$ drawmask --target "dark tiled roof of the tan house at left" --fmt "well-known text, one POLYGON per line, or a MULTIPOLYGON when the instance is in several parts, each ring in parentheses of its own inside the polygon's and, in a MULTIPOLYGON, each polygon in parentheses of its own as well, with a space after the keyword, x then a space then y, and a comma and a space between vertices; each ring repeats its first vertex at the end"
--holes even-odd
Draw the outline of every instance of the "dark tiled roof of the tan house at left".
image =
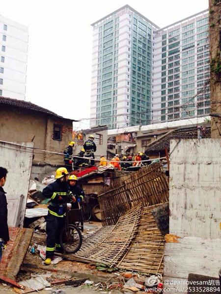
MULTIPOLYGON (((63 118, 63 117, 57 115, 55 112, 52 112, 51 110, 48 110, 46 108, 43 108, 41 106, 38 106, 36 104, 33 104, 28 101, 24 101, 24 100, 18 100, 18 99, 12 99, 12 98, 6 98, 6 97, 0 96, 0 105, 2 105, 2 104, 3 105, 10 105, 10 106, 18 107, 18 108, 23 108, 23 109, 29 109, 29 110, 37 111, 40 113, 45 113, 45 114, 48 114, 51 116, 63 118)), ((63 119, 65 119, 65 118, 63 118, 63 119)), ((71 119, 66 119, 66 120, 71 120, 71 119)), ((72 121, 74 121, 74 120, 72 120, 72 121)))

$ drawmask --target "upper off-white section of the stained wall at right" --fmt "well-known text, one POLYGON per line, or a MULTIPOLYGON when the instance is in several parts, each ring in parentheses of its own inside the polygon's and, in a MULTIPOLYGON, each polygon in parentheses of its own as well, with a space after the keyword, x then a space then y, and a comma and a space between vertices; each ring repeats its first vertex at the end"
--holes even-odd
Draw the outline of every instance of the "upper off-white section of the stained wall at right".
POLYGON ((221 139, 171 140, 169 231, 221 238, 221 139))

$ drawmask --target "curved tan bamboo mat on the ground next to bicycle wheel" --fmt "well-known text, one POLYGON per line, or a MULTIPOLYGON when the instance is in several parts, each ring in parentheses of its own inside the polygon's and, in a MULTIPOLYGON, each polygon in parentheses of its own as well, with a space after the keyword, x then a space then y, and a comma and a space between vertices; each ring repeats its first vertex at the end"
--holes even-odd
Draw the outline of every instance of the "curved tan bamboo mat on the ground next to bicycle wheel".
POLYGON ((115 266, 128 251, 138 231, 141 205, 120 217, 115 225, 106 226, 83 242, 75 254, 85 262, 101 262, 115 266))

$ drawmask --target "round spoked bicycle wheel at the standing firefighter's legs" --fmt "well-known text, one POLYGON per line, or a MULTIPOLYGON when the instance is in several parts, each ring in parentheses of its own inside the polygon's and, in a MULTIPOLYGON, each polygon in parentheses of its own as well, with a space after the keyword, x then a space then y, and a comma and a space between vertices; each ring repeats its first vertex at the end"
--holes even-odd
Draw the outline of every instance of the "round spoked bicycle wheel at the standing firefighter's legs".
POLYGON ((82 246, 81 230, 74 224, 68 224, 61 229, 60 245, 66 253, 75 253, 82 246))

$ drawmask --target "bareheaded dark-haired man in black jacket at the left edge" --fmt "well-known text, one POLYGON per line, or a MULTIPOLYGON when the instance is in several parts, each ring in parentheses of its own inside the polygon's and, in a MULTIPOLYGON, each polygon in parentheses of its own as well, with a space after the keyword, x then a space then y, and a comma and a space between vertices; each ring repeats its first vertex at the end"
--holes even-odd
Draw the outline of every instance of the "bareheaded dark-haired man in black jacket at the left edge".
POLYGON ((7 200, 3 186, 6 182, 6 176, 8 171, 5 168, 0 167, 0 260, 2 255, 2 248, 9 241, 8 232, 8 210, 7 210, 7 200))

